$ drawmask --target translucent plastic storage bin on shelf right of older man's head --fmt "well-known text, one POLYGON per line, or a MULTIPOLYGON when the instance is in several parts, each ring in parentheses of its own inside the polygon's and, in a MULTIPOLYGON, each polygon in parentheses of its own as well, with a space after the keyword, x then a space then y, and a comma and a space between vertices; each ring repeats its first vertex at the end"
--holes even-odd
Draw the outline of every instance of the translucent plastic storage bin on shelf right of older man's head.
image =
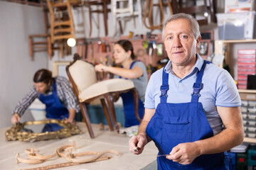
POLYGON ((255 11, 243 13, 216 13, 219 40, 253 39, 255 11))

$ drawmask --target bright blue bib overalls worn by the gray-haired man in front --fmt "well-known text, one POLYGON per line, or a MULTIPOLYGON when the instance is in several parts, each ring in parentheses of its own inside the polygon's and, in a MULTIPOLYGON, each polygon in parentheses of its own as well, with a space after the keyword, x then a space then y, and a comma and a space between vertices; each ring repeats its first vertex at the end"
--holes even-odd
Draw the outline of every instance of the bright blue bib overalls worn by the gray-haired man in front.
MULTIPOLYGON (((163 82, 160 88, 160 103, 156 107, 156 113, 146 127, 146 134, 151 137, 159 154, 169 154, 176 145, 184 142, 195 142, 208 137, 213 137, 213 130, 208 123, 201 102, 198 102, 203 70, 206 67, 204 61, 202 69, 197 74, 196 83, 193 84, 193 94, 189 103, 166 103, 169 90, 169 74, 163 69, 163 82)), ((209 63, 208 63, 209 64, 209 63)), ((158 169, 200 169, 200 170, 224 170, 228 159, 224 153, 204 154, 193 160, 191 164, 182 165, 166 157, 157 157, 158 169)), ((227 167, 228 168, 228 167, 227 167)))

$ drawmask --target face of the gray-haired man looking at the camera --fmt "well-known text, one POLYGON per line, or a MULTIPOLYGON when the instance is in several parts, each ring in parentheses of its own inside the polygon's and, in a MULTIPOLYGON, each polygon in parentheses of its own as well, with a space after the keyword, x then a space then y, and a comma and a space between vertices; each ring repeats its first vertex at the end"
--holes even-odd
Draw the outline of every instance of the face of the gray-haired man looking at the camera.
POLYGON ((201 37, 198 40, 193 35, 191 24, 186 19, 169 22, 164 30, 164 45, 172 64, 176 66, 188 65, 196 56, 201 37))

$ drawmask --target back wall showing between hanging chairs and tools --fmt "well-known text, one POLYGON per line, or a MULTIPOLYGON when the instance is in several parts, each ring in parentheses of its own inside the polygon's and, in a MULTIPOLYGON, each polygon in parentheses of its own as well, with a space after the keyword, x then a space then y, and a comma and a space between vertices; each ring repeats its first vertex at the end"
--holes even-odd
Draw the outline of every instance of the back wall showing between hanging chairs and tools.
MULTIPOLYGON (((203 0, 198 0, 198 4, 203 3, 203 0)), ((143 4, 143 3, 142 3, 143 4)), ((217 13, 223 13, 224 12, 224 1, 218 0, 216 6, 217 13)), ((142 5, 142 8, 144 6, 142 5)), ((100 40, 108 40, 110 41, 110 46, 112 45, 113 42, 119 40, 119 39, 124 39, 129 36, 129 33, 132 32, 133 36, 135 35, 144 35, 144 40, 146 38, 146 33, 151 32, 151 34, 156 34, 159 36, 159 39, 157 42, 161 41, 161 30, 149 30, 144 26, 144 24, 140 24, 138 17, 135 17, 135 27, 133 24, 132 20, 128 21, 122 21, 122 28, 123 28, 123 34, 119 35, 118 33, 114 33, 114 28, 113 28, 113 17, 112 13, 108 13, 108 18, 107 18, 107 27, 108 27, 108 35, 105 36, 105 27, 104 27, 104 21, 103 21, 103 15, 102 13, 92 13, 92 35, 89 35, 90 32, 90 22, 89 22, 89 12, 88 8, 86 6, 84 7, 79 7, 79 8, 74 8, 74 23, 75 23, 75 36, 76 38, 86 38, 87 42, 91 43, 88 46, 88 51, 87 53, 90 52, 91 45, 93 45, 93 57, 95 57, 96 62, 102 62, 105 60, 105 57, 109 55, 109 57, 112 57, 111 52, 98 52, 97 48, 99 45, 97 45, 97 39, 100 40), (100 61, 97 61, 97 59, 101 59, 100 61)), ((166 7, 164 8, 164 18, 168 18, 170 16, 169 9, 166 7)), ((157 22, 160 20, 160 13, 156 12, 154 15, 154 24, 157 25, 157 22)), ((118 25, 118 24, 117 24, 118 25)), ((214 39, 218 40, 218 26, 216 23, 210 23, 208 26, 201 26, 201 31, 206 31, 206 30, 214 30, 214 39)), ((119 30, 119 27, 117 26, 117 30, 119 30)), ((132 43, 134 44, 134 48, 137 48, 135 45, 138 45, 140 43, 140 40, 131 40, 132 43)), ((142 45, 140 45, 142 46, 142 45)), ((52 60, 48 60, 48 69, 53 70, 53 64, 56 61, 73 61, 73 54, 75 52, 81 52, 81 49, 77 47, 72 48, 72 55, 67 55, 65 57, 60 56, 60 52, 55 51, 55 55, 53 56, 52 60)), ((134 51, 136 52, 136 50, 134 51)), ((154 56, 153 56, 153 65, 156 66, 157 60, 161 59, 161 57, 155 57, 156 55, 156 50, 154 50, 154 56)), ((92 55, 88 54, 87 56, 92 58, 92 55)), ((87 59, 90 61, 90 59, 87 59)), ((149 55, 144 56, 144 60, 148 61, 149 60, 149 55)), ((146 63, 148 64, 148 63, 146 63)))

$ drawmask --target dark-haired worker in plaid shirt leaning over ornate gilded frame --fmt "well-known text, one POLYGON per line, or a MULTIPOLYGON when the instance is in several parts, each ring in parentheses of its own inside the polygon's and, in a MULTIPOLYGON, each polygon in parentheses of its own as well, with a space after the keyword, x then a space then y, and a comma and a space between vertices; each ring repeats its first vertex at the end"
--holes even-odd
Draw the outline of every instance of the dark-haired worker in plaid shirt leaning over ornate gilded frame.
POLYGON ((46 118, 65 119, 66 123, 74 123, 75 116, 80 116, 80 107, 68 79, 52 77, 48 69, 39 69, 33 77, 33 84, 31 91, 14 108, 11 123, 18 123, 36 98, 46 104, 46 118))

